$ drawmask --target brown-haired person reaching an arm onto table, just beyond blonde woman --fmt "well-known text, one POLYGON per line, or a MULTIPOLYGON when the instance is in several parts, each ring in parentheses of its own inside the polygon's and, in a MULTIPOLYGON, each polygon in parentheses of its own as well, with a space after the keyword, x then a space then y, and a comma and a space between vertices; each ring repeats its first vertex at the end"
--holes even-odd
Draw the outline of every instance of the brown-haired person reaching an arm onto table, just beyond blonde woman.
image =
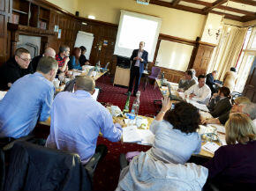
POLYGON ((242 104, 248 104, 248 106, 251 104, 251 100, 241 96, 237 97, 237 99, 234 100, 235 104, 231 107, 230 111, 220 115, 217 118, 207 118, 202 122, 202 124, 222 124, 224 125, 226 121, 229 120, 230 118, 230 113, 237 113, 237 112, 242 112, 243 105, 242 104))

